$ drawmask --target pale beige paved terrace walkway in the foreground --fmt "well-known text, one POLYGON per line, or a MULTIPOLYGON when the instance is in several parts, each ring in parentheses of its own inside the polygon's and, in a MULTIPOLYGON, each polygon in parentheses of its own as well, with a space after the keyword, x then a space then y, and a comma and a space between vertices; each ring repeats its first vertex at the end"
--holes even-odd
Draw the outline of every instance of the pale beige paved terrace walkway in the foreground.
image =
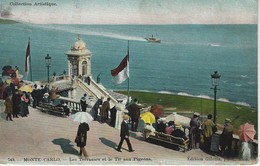
MULTIPOLYGON (((1 107, 1 106, 0 106, 1 107)), ((78 124, 71 118, 48 115, 30 108, 28 117, 6 121, 0 109, 1 164, 253 164, 256 161, 225 161, 201 150, 178 152, 143 141, 140 132, 131 133, 135 152, 129 153, 126 143, 122 152, 114 147, 119 130, 96 121, 90 123, 86 150, 89 159, 80 159, 74 139, 78 124)))

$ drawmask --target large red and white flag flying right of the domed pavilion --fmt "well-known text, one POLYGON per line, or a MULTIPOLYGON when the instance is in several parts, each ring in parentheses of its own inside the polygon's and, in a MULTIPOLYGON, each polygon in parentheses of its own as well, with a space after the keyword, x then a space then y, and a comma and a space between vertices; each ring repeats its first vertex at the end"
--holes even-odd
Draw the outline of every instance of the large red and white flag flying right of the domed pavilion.
POLYGON ((116 84, 121 84, 129 77, 129 55, 126 55, 117 68, 111 70, 116 84))

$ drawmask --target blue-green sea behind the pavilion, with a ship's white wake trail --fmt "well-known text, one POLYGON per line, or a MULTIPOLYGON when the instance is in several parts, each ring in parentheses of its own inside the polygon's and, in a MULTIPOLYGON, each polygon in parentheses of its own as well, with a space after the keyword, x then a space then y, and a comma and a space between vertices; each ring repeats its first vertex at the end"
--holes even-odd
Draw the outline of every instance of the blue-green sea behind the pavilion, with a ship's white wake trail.
MULTIPOLYGON (((50 73, 67 69, 65 53, 78 38, 92 52, 92 77, 111 90, 110 70, 127 54, 129 88, 213 99, 211 74, 221 74, 217 100, 257 108, 257 25, 0 25, 0 67, 18 66, 24 74, 30 40, 33 80, 47 80, 45 56, 52 58, 50 73), (145 37, 160 38, 149 43, 145 37)), ((24 77, 24 79, 26 79, 24 77)), ((29 78, 28 78, 29 79, 29 78)))

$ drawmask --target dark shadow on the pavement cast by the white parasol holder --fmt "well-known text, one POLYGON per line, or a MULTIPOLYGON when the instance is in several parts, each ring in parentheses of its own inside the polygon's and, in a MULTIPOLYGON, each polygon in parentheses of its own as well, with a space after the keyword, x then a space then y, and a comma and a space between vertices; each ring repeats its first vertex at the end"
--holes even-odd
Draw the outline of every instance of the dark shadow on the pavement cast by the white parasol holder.
POLYGON ((52 140, 52 143, 55 145, 60 145, 63 153, 66 154, 74 154, 74 155, 78 155, 78 151, 73 147, 74 145, 70 144, 71 141, 69 139, 65 139, 65 138, 57 138, 52 140))

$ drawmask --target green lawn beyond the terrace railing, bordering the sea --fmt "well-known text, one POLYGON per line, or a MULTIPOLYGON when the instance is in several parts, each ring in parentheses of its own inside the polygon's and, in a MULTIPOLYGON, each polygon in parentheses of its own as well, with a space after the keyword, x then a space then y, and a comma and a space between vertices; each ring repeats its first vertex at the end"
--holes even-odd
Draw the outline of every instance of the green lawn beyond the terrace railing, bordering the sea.
MULTIPOLYGON (((118 93, 126 94, 125 91, 118 91, 118 93)), ((193 111, 201 115, 211 113, 213 115, 214 101, 209 99, 201 99, 197 97, 179 96, 172 94, 147 93, 147 92, 130 92, 132 98, 137 98, 139 103, 150 106, 153 104, 160 104, 164 107, 164 112, 184 112, 193 111), (176 108, 173 109, 173 108, 176 108)), ((238 119, 233 121, 235 128, 243 123, 251 123, 255 125, 257 130, 257 110, 246 106, 236 105, 232 103, 217 101, 217 123, 223 124, 225 118, 238 119)))

